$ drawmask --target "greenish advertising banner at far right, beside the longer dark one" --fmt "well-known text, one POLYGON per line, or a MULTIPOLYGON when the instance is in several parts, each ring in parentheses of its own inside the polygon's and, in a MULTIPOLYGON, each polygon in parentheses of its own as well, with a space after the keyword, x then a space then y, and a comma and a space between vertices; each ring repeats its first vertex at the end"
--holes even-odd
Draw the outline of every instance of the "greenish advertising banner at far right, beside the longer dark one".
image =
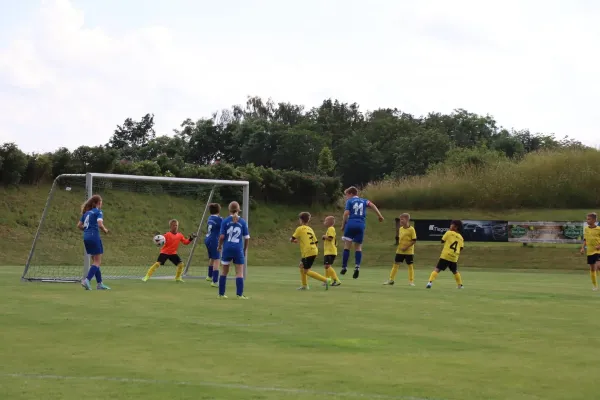
POLYGON ((518 243, 582 243, 582 222, 508 221, 508 241, 518 243))

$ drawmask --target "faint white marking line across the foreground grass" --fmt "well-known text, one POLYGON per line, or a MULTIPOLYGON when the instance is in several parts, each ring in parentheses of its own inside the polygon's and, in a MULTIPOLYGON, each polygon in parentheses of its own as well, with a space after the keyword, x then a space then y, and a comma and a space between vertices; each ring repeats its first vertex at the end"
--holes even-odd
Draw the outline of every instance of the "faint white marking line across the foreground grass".
POLYGON ((276 392, 282 394, 307 394, 312 396, 336 396, 342 398, 365 398, 381 400, 443 400, 434 398, 412 397, 412 396, 388 396, 384 394, 366 394, 359 392, 330 392, 318 390, 305 390, 294 388, 279 387, 261 387, 250 385, 237 385, 233 383, 215 383, 215 382, 189 382, 189 381, 168 381, 159 379, 140 379, 140 378, 120 378, 110 376, 68 376, 68 375, 41 375, 41 374, 6 374, 0 373, 0 376, 20 379, 39 379, 39 380, 63 380, 63 381, 101 381, 101 382, 120 382, 120 383, 142 383, 146 385, 177 385, 177 386, 204 386, 221 389, 237 389, 253 392, 276 392))

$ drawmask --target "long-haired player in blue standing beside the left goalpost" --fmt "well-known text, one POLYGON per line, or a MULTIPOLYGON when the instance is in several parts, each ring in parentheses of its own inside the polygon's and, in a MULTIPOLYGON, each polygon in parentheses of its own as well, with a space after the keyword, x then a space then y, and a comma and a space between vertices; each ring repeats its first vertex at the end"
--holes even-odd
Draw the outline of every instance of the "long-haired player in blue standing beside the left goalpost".
POLYGON ((92 290, 90 281, 96 277, 96 289, 110 289, 102 283, 102 273, 100 272, 100 264, 102 262, 102 238, 100 238, 100 230, 108 233, 108 229, 104 226, 104 216, 102 214, 102 197, 95 194, 81 206, 81 218, 77 223, 77 228, 83 231, 83 245, 86 253, 92 258, 92 265, 88 271, 87 277, 81 281, 81 286, 85 290, 92 290))

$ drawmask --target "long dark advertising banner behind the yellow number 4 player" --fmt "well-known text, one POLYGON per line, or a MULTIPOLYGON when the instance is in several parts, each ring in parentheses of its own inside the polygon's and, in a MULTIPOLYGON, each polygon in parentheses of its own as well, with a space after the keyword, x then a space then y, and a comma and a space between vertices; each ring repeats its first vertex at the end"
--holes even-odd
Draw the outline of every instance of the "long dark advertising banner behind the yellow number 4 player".
MULTIPOLYGON (((440 241, 450 229, 450 220, 415 220, 415 231, 419 241, 440 241)), ((468 242, 508 242, 507 221, 462 220, 462 236, 468 242)))

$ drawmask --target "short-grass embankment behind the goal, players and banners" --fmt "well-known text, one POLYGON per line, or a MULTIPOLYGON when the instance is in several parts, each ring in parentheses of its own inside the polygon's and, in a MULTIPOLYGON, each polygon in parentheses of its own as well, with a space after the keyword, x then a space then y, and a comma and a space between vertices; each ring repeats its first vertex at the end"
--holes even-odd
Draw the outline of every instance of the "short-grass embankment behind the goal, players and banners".
MULTIPOLYGON (((0 189, 0 265, 24 265, 49 186, 0 189)), ((157 249, 151 242, 155 231, 166 231, 168 220, 180 220, 185 234, 196 230, 205 200, 192 200, 168 195, 131 193, 119 190, 102 193, 105 198, 105 223, 111 230, 105 236, 104 265, 145 266, 152 263, 157 249)), ((75 228, 79 207, 84 199, 81 189, 61 188, 51 203, 46 224, 41 232, 33 263, 37 265, 81 265, 80 232, 75 228)), ((250 214, 250 265, 291 267, 298 259, 298 249, 288 242, 302 209, 283 205, 259 204, 250 214)), ((340 217, 342 210, 308 210, 313 213, 312 226, 323 230, 326 215, 340 217)), ((394 254, 394 217, 401 211, 383 209, 386 221, 369 218, 365 243, 365 267, 390 266, 394 254)), ((431 210, 412 212, 413 218, 470 218, 513 220, 582 220, 588 210, 431 210)), ((339 218, 336 226, 339 230, 339 218)), ((338 232, 341 236, 341 233, 338 232)), ((339 244, 338 244, 339 246, 339 244)), ((340 246, 341 248, 341 246, 340 246)), ((439 256, 437 243, 419 243, 417 268, 431 268, 439 256)), ((461 258, 465 268, 493 269, 585 269, 585 260, 577 255, 577 245, 539 245, 467 243, 461 258)), ((182 249, 182 256, 189 248, 182 249)), ((206 252, 198 247, 195 264, 206 264, 206 252)), ((338 264, 339 267, 339 264, 338 264)))

